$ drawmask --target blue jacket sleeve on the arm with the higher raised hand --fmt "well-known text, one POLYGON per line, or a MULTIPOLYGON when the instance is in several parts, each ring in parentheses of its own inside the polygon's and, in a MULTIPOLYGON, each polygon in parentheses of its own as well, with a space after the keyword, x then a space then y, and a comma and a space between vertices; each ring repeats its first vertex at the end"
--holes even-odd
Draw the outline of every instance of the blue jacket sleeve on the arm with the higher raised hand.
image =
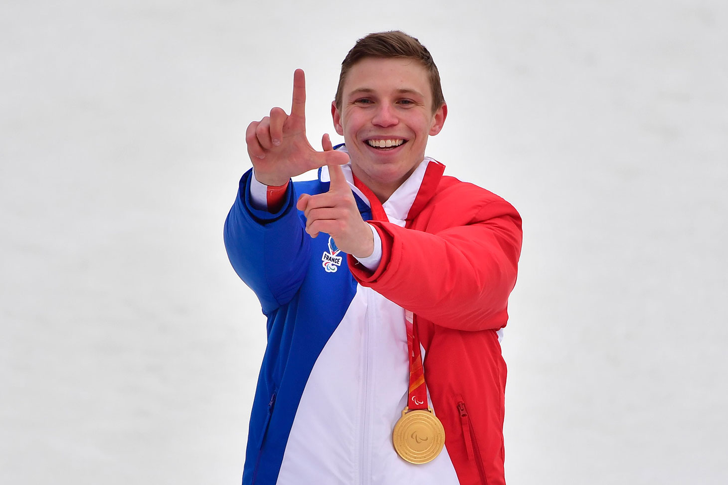
POLYGON ((248 170, 240 179, 235 202, 225 220, 223 239, 232 267, 261 301, 264 314, 288 303, 304 280, 309 238, 298 217, 293 184, 276 213, 253 208, 248 170))

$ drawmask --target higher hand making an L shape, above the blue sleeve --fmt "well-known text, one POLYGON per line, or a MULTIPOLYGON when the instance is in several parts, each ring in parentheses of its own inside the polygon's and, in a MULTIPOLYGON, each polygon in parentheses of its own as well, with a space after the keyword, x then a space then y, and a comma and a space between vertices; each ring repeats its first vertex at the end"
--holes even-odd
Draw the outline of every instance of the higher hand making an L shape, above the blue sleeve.
POLYGON ((305 111, 306 79, 304 71, 296 69, 290 115, 276 107, 271 110, 270 116, 250 123, 245 131, 248 155, 259 182, 280 186, 308 170, 349 162, 349 156, 341 151, 313 149, 306 138, 305 111))

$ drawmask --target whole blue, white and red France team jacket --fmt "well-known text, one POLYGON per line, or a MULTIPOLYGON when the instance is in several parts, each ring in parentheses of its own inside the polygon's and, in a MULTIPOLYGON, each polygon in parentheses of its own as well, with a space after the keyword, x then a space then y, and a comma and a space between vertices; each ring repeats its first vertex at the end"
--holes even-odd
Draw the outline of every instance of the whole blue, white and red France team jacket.
POLYGON ((238 275, 267 317, 242 483, 505 484, 506 366, 499 331, 515 285, 521 218, 505 200, 443 176, 425 159, 381 205, 344 166, 379 232, 373 273, 328 237, 304 232, 300 194, 328 191, 328 170, 289 184, 277 213, 250 203, 248 171, 226 219, 238 275), (408 399, 404 309, 416 315, 443 452, 397 456, 392 427, 408 399))

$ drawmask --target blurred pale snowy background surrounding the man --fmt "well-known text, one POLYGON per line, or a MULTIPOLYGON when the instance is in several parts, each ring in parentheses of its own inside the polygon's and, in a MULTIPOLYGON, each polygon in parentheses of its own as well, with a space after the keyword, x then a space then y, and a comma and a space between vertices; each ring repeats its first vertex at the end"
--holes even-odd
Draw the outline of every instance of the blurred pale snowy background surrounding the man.
POLYGON ((521 211, 510 485, 728 482, 724 0, 5 0, 0 483, 239 484, 264 318, 222 225, 245 127, 400 28, 428 154, 521 211))

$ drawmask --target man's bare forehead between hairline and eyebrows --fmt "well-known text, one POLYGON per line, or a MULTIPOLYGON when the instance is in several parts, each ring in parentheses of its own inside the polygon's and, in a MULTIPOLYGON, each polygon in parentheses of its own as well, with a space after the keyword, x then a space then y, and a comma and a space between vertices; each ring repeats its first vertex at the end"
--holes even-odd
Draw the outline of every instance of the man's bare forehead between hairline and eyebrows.
POLYGON ((344 79, 344 96, 359 90, 382 94, 411 90, 430 98, 430 76, 416 59, 363 58, 349 68, 344 79))

